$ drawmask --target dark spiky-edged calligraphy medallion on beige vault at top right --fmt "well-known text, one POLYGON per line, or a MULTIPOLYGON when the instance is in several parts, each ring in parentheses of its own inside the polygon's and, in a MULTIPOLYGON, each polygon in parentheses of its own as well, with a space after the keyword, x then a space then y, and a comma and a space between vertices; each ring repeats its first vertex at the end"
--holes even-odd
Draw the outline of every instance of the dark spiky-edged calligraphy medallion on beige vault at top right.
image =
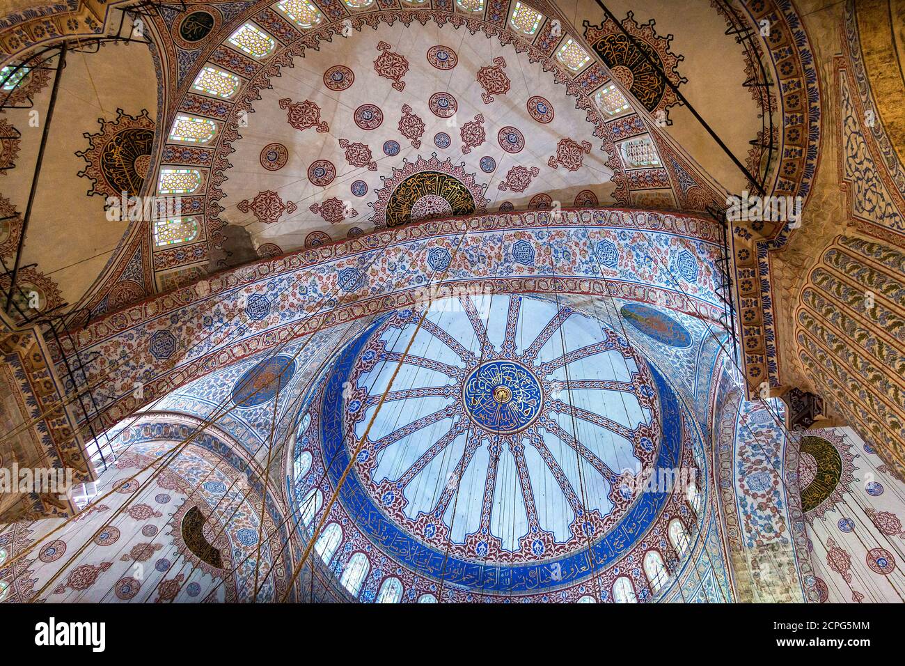
POLYGON ((676 87, 688 82, 676 70, 684 56, 670 51, 672 34, 662 37, 656 33, 653 25, 653 19, 639 25, 632 12, 626 15, 622 28, 613 19, 607 19, 601 25, 584 22, 586 42, 614 77, 651 113, 664 111, 679 103, 662 72, 676 87), (630 40, 623 29, 632 34, 634 39, 630 40), (640 48, 636 43, 640 44, 640 48), (657 63, 657 67, 651 61, 657 63))

